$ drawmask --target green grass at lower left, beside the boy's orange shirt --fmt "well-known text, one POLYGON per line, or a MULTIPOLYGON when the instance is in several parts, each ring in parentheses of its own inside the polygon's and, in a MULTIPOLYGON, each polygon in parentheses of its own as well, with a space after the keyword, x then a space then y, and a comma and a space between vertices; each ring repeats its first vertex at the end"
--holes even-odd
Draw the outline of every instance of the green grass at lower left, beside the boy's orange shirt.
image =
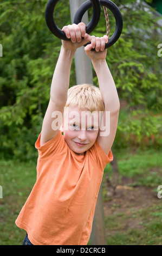
POLYGON ((17 228, 15 220, 29 196, 36 179, 35 163, 0 161, 0 245, 22 245, 25 231, 17 228))

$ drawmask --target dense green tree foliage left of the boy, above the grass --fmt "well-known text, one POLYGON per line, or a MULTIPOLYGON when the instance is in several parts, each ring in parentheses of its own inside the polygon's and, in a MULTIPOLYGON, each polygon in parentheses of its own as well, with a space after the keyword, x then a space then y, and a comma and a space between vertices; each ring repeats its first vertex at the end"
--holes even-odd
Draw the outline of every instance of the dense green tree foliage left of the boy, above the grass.
MULTIPOLYGON (((70 23, 69 8, 58 3, 57 20, 70 23), (67 13, 67 15, 65 15, 67 13)), ((0 4, 1 157, 35 158, 34 142, 41 131, 60 39, 44 19, 47 1, 5 1, 0 4), (23 142, 23 144, 22 144, 23 142)))

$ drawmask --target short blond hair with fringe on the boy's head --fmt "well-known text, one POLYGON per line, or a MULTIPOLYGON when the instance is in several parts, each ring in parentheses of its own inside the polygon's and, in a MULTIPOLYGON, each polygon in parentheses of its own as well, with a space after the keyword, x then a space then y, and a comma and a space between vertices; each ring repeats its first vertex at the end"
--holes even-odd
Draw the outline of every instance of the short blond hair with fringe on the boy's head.
POLYGON ((66 107, 79 107, 90 112, 104 111, 100 89, 90 84, 79 84, 68 89, 66 107))

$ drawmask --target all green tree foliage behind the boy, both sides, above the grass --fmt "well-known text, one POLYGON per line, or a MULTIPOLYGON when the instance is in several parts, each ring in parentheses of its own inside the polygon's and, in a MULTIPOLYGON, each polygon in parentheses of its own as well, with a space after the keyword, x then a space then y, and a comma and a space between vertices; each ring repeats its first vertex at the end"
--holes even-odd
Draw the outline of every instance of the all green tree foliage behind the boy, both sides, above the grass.
MULTIPOLYGON (((151 1, 147 1, 150 3, 151 1)), ((154 135, 160 144, 159 111, 161 98, 161 60, 157 46, 161 28, 152 9, 143 1, 115 1, 120 7, 124 28, 120 39, 108 49, 107 63, 114 77, 120 99, 127 102, 126 116, 120 115, 116 145, 137 136, 154 135), (156 115, 155 115, 156 114, 156 115), (123 140, 121 139, 123 138, 123 140)), ((0 3, 0 157, 21 160, 36 156, 34 143, 41 131, 46 112, 51 78, 61 47, 61 40, 50 33, 44 19, 47 0, 12 0, 0 3)), ((92 10, 89 10, 89 17, 92 10)), ((114 18, 109 14, 111 35, 114 18)), ((59 27, 70 23, 69 2, 56 5, 55 21, 59 27)), ((102 13, 93 34, 105 34, 102 13)), ((96 82, 94 74, 94 83, 96 82)), ((70 84, 75 84, 74 62, 70 84)))

